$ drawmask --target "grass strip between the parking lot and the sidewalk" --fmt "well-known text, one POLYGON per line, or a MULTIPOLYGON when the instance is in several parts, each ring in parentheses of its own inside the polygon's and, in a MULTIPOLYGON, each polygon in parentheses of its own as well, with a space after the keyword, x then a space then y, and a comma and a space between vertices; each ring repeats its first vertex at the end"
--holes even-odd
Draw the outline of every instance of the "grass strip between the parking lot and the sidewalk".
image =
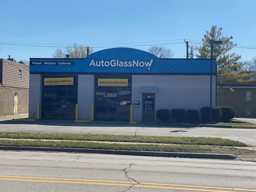
POLYGON ((245 143, 222 138, 211 137, 172 137, 172 136, 128 136, 128 135, 98 135, 98 134, 64 134, 64 133, 24 133, 0 132, 0 138, 14 139, 55 139, 80 141, 113 141, 134 143, 163 143, 177 145, 211 145, 246 147, 245 143))

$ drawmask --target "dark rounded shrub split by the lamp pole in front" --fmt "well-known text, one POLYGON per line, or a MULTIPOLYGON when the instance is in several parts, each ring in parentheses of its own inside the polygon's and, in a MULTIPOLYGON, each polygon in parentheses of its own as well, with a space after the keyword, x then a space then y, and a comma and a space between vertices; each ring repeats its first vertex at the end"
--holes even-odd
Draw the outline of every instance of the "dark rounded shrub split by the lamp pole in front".
MULTIPOLYGON (((210 107, 202 107, 200 109, 203 122, 210 120, 210 107)), ((221 109, 219 107, 212 107, 212 121, 218 122, 221 118, 221 109)))

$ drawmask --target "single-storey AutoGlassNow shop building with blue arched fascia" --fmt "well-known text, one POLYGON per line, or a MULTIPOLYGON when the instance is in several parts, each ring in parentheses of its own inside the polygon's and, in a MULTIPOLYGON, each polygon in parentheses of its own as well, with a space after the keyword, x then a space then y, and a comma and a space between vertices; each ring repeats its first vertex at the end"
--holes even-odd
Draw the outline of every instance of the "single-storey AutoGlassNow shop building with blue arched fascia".
MULTIPOLYGON (((210 59, 159 59, 132 48, 30 58, 29 119, 155 121, 158 109, 210 106, 210 59), (132 107, 130 106, 132 105, 132 107), (91 115, 91 108, 93 114, 91 115), (131 113, 132 110, 132 113, 131 113)), ((216 60, 212 68, 216 99, 216 60)))

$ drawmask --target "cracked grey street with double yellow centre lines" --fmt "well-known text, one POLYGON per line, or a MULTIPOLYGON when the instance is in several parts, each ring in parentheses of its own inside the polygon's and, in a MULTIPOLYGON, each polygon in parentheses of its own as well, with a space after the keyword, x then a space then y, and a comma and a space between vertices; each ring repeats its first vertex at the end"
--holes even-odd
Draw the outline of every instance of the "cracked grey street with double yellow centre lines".
POLYGON ((256 191, 237 160, 0 151, 0 173, 0 191, 256 191))

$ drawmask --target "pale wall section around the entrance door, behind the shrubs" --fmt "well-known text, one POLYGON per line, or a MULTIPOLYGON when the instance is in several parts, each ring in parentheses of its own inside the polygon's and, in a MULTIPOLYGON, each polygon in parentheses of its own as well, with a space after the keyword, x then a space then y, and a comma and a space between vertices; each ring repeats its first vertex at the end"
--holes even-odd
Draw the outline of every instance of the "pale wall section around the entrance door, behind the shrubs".
MULTIPOLYGON (((212 105, 215 106, 215 76, 213 76, 212 105)), ((133 120, 142 120, 142 93, 140 86, 156 86, 155 115, 158 109, 195 109, 210 106, 210 76, 208 75, 133 75, 132 104, 133 120)), ((155 118, 155 121, 157 119, 155 118)))

